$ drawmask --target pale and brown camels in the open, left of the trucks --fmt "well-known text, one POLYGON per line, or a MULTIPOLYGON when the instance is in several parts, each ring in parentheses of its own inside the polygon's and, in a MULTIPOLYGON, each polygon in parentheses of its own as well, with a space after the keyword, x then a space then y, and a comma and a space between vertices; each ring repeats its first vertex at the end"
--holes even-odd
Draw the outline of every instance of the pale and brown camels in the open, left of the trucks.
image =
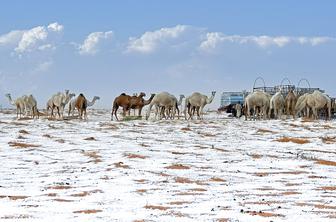
MULTIPOLYGON (((195 92, 189 97, 185 98, 184 95, 180 95, 179 100, 172 94, 168 92, 161 92, 158 94, 151 94, 148 100, 145 100, 145 93, 141 92, 139 95, 127 95, 125 93, 117 96, 112 104, 111 120, 115 117, 118 119, 117 111, 119 107, 123 109, 123 116, 130 115, 131 109, 138 110, 138 116, 141 116, 141 111, 144 106, 149 105, 149 109, 146 113, 146 119, 149 118, 151 110, 154 106, 155 108, 155 119, 174 119, 175 116, 179 118, 180 116, 180 106, 183 99, 185 98, 185 118, 192 119, 197 114, 199 119, 202 118, 202 113, 204 106, 210 104, 216 92, 212 92, 211 96, 208 97, 199 92, 195 92), (188 117, 189 115, 189 117, 188 117)), ((6 94, 9 99, 10 104, 16 107, 17 118, 22 116, 39 118, 40 113, 37 109, 37 102, 33 95, 24 95, 16 99, 12 99, 10 94, 6 94)), ((89 106, 93 106, 100 97, 94 96, 92 101, 88 101, 85 96, 81 93, 75 97, 74 93, 70 93, 69 90, 65 92, 58 92, 50 97, 46 104, 46 114, 50 118, 56 118, 58 115, 59 119, 63 119, 63 113, 65 107, 68 105, 68 116, 74 116, 75 110, 78 111, 78 116, 81 119, 87 119, 86 109, 89 106), (55 114, 56 112, 56 114, 55 114)))

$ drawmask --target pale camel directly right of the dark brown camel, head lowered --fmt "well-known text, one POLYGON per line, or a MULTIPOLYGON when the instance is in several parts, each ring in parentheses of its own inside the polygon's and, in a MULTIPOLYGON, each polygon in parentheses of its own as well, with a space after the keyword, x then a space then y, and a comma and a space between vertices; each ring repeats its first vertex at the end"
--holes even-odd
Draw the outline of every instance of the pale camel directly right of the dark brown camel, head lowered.
POLYGON ((162 119, 163 113, 162 109, 164 110, 170 110, 171 109, 171 118, 175 115, 176 106, 177 106, 177 99, 175 96, 171 95, 168 92, 161 92, 159 94, 156 94, 154 98, 152 99, 151 103, 149 104, 149 108, 146 115, 146 120, 148 120, 150 116, 150 112, 152 107, 155 105, 156 112, 155 112, 155 119, 157 118, 157 115, 159 114, 159 119, 162 119), (164 107, 164 108, 162 108, 164 107))

